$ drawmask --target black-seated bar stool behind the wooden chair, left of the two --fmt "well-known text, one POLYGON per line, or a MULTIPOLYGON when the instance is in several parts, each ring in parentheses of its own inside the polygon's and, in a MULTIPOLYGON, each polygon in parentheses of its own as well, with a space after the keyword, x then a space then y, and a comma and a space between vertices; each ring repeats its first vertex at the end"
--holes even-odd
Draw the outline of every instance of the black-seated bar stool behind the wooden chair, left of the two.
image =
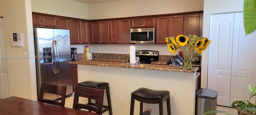
MULTIPOLYGON (((107 100, 108 100, 108 106, 103 105, 102 113, 109 111, 109 115, 112 115, 112 108, 111 108, 111 101, 110 101, 110 92, 109 92, 109 86, 108 83, 106 82, 96 82, 96 81, 83 81, 81 83, 78 83, 76 85, 83 86, 83 87, 91 87, 95 89, 106 89, 106 95, 107 95, 107 100)), ((88 98, 88 103, 87 105, 96 105, 96 103, 92 103, 91 99, 88 98)))

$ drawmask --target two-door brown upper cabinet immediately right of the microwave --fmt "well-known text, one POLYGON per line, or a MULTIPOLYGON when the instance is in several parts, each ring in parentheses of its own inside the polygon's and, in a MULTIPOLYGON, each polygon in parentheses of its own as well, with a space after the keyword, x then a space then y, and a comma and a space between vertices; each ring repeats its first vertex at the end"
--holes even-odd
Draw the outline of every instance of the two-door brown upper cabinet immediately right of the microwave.
POLYGON ((165 37, 178 36, 183 31, 183 16, 156 18, 156 44, 166 44, 165 37))

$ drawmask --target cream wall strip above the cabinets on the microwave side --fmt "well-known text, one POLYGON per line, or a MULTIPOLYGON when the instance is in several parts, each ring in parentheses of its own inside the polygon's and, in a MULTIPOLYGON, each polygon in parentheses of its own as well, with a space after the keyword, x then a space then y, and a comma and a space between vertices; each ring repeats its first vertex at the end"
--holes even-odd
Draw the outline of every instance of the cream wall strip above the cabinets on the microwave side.
POLYGON ((204 0, 119 0, 90 4, 89 20, 203 10, 204 0))

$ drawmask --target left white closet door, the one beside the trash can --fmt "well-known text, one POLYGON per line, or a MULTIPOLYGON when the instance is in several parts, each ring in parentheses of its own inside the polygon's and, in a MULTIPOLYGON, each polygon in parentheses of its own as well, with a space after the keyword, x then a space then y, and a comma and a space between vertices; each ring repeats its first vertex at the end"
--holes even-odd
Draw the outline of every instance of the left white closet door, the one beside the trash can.
POLYGON ((230 106, 234 13, 210 15, 208 54, 209 89, 218 91, 218 105, 230 106))

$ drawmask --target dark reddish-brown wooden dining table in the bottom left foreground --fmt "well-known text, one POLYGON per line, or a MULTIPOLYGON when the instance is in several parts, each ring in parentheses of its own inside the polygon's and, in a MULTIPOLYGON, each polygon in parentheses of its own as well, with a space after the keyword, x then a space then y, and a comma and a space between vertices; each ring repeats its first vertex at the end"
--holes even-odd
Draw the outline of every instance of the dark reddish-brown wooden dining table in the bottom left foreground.
POLYGON ((13 96, 13 97, 7 97, 0 100, 0 115, 98 115, 98 114, 13 96))

